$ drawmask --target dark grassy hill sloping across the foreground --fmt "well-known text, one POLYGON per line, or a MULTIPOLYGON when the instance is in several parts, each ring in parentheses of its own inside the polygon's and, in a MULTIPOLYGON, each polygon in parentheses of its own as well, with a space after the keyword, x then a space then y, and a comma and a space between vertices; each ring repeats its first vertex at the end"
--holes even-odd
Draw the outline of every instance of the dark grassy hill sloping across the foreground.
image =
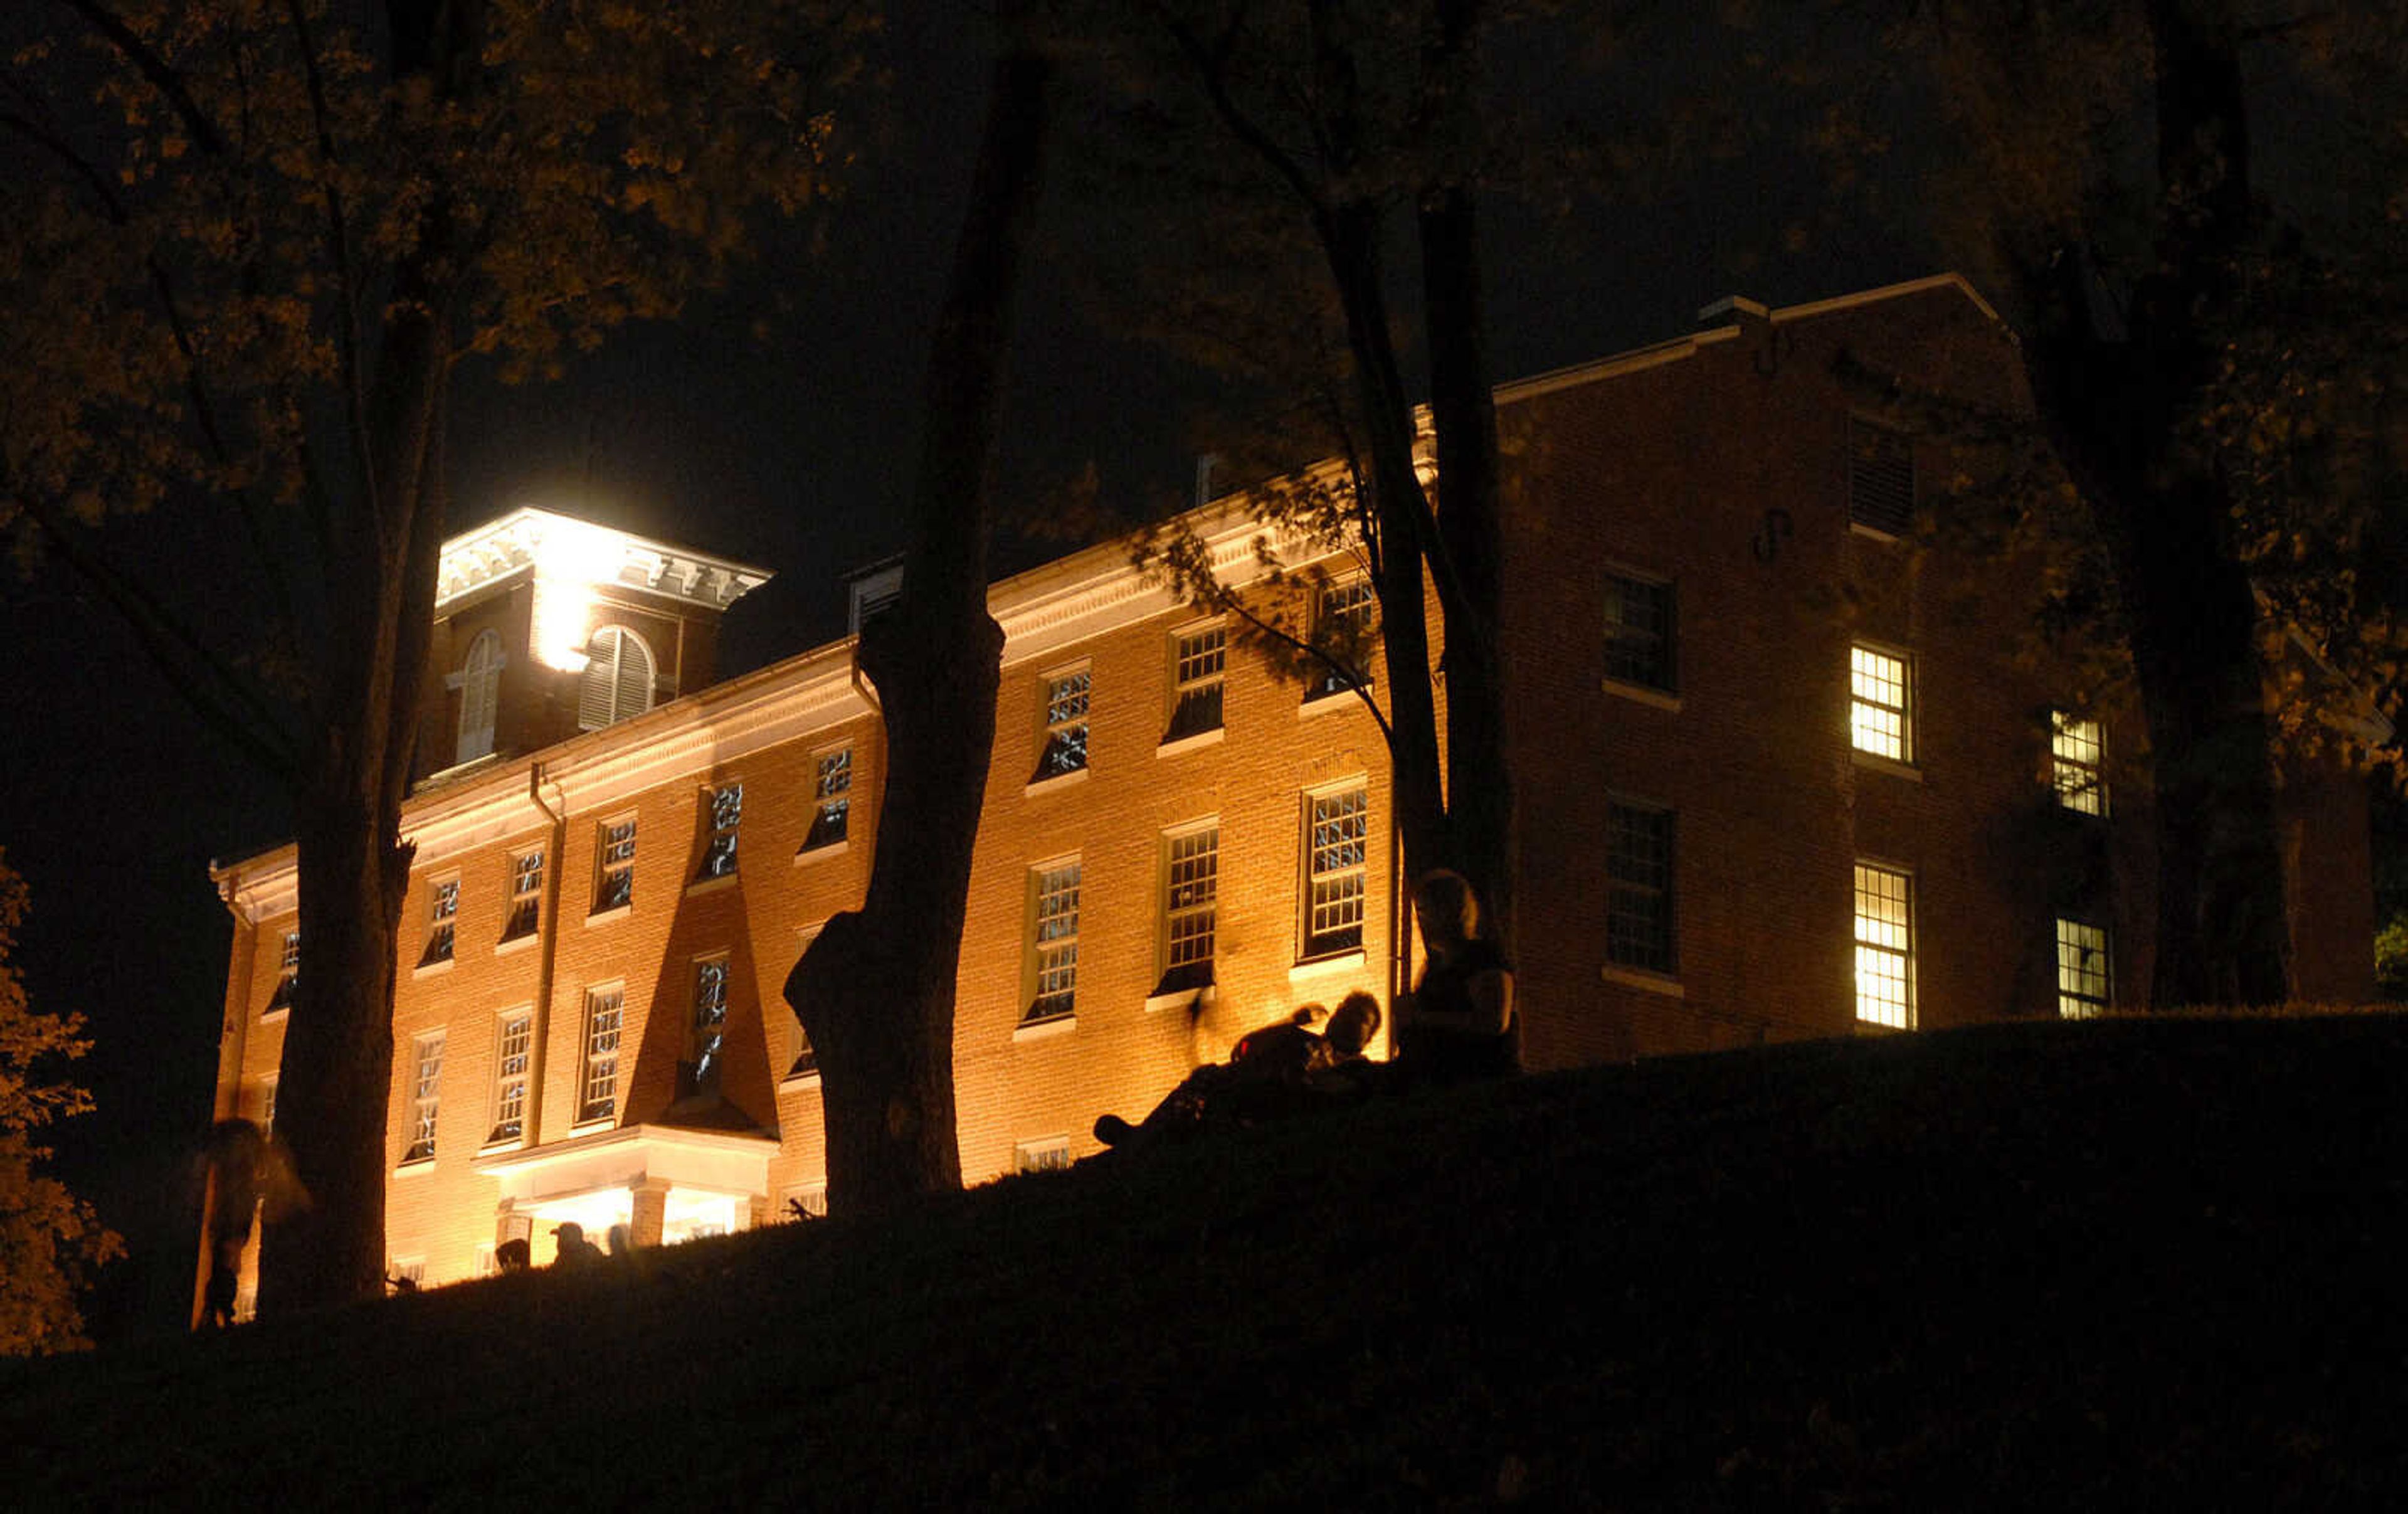
POLYGON ((2408 1021, 1527 1078, 0 1365, 0 1504, 2408 1497, 2408 1021))

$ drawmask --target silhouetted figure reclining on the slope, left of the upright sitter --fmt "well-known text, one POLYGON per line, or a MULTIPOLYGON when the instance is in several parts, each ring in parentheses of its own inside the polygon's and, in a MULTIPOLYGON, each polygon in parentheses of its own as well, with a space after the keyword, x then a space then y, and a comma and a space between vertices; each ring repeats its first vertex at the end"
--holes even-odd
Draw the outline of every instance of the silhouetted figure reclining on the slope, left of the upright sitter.
POLYGON ((1187 1074, 1144 1124, 1103 1114, 1096 1119, 1096 1139, 1122 1148, 1151 1146, 1211 1126, 1276 1119, 1356 1090, 1346 1069, 1363 1059, 1363 1047, 1380 1033, 1380 1001, 1353 992, 1339 1001, 1324 1030, 1310 1028, 1315 1018, 1320 1006, 1308 1004, 1286 1021, 1247 1030, 1228 1061, 1187 1074))

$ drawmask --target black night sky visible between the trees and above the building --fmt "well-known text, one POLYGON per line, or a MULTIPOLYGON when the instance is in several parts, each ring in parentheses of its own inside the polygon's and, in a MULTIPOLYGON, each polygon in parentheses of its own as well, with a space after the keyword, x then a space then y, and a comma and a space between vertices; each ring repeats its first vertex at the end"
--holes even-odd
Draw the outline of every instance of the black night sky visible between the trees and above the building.
MULTIPOLYGON (((465 371, 453 532, 532 503, 773 568, 780 578, 730 616, 722 672, 843 631, 838 575, 901 549, 920 368, 985 96, 975 12, 896 12, 893 82, 864 111, 826 246, 780 253, 759 282, 677 325, 624 332, 561 383, 503 388, 465 371), (756 342, 773 289, 792 313, 756 342)), ((1560 77, 1551 87, 1568 91, 1563 113, 1601 106, 1560 77)), ((1873 226, 1799 238, 1820 197, 1813 168, 1758 152, 1700 154, 1645 202, 1568 219, 1491 200, 1495 375, 1678 335, 1727 294, 1780 306, 1938 267, 1922 238, 1873 226)), ((1019 311, 1007 508, 1043 503, 1093 462, 1103 503, 1137 515, 1187 489, 1194 455, 1214 445, 1192 428, 1209 383, 1098 330, 1084 296, 1112 255, 1098 224, 1076 164, 1057 164, 1019 311)), ((1144 267, 1125 277, 1141 282, 1144 267)), ((195 539, 190 518, 118 522, 111 542, 128 563, 202 585, 209 614, 241 614, 236 597, 207 592, 231 549, 195 539)), ((1062 549, 1007 542, 995 568, 1062 549)), ((94 1037, 79 1076, 101 1107, 55 1131, 58 1170, 135 1247, 89 1312, 106 1336, 173 1329, 193 1276, 188 1153, 209 1119, 231 939, 207 864, 284 840, 284 806, 63 566, 0 580, 0 847, 34 891, 19 965, 36 1009, 82 1011, 94 1037)))

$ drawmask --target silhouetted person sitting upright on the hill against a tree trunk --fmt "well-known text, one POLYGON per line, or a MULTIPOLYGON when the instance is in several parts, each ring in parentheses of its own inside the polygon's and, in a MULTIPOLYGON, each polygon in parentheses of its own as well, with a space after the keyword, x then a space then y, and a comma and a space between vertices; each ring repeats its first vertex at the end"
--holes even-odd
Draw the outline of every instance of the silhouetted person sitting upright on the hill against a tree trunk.
POLYGON ((1522 1016, 1512 968, 1479 934, 1471 883, 1447 869, 1413 886, 1413 915, 1430 960, 1397 999, 1397 1076, 1409 1086, 1452 1086, 1522 1071, 1522 1016))

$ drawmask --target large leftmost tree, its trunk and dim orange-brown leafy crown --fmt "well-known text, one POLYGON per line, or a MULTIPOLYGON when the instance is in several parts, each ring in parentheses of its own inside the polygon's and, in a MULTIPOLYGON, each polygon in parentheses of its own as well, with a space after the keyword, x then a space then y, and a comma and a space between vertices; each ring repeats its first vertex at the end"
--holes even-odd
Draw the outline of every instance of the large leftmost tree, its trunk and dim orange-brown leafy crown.
MULTIPOLYGON (((48 0, 0 65, 0 530, 294 797, 311 970, 262 1307, 383 1278, 393 932, 460 361, 667 318, 836 159, 843 0, 48 0), (241 614, 84 527, 173 508, 241 614)), ((195 578, 207 578, 200 573, 195 578)))

